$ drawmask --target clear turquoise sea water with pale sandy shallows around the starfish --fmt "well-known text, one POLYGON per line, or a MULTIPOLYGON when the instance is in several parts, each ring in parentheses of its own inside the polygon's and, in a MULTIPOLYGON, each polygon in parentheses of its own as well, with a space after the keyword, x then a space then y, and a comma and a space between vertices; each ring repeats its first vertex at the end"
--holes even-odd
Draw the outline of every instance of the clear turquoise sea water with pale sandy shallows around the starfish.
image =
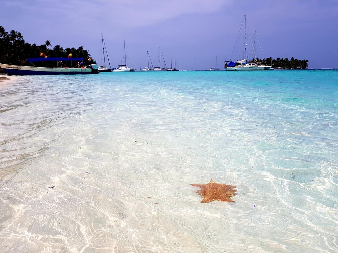
POLYGON ((0 252, 338 252, 338 70, 9 78, 0 252))

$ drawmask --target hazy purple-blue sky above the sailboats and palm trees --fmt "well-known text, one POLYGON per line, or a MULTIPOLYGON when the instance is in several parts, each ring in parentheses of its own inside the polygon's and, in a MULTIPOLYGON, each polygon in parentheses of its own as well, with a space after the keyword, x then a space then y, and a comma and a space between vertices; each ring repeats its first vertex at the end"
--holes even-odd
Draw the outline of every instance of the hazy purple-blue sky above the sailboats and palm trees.
POLYGON ((338 68, 337 0, 0 0, 0 25, 26 42, 83 46, 101 64, 103 33, 111 66, 121 63, 125 40, 127 65, 136 69, 147 65, 147 51, 158 65, 159 47, 167 66, 171 54, 179 69, 209 69, 217 55, 222 68, 244 15, 250 32, 257 31, 259 58, 338 68))

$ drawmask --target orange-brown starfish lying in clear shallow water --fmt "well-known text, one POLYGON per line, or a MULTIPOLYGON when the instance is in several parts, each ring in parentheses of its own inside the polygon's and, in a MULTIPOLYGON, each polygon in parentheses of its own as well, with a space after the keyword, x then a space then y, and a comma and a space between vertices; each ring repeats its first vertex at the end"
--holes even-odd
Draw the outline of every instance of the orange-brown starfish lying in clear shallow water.
POLYGON ((213 200, 235 202, 230 197, 236 195, 235 192, 237 190, 231 189, 236 188, 236 186, 217 184, 213 180, 210 180, 210 182, 205 185, 195 185, 195 184, 191 185, 202 188, 202 190, 196 191, 196 193, 198 193, 199 195, 204 196, 201 203, 211 202, 213 200))

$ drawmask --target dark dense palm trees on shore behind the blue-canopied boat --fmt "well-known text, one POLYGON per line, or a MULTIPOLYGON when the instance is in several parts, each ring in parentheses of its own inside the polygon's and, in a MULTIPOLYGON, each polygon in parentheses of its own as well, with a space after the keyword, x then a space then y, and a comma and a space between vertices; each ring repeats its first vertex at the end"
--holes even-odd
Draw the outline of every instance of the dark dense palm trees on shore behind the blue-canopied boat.
MULTIPOLYGON (((25 65, 24 62, 27 58, 39 58, 40 53, 48 57, 68 57, 71 53, 72 57, 84 58, 87 60, 90 57, 87 50, 83 47, 75 48, 62 48, 60 45, 54 46, 47 40, 44 45, 37 46, 26 43, 20 32, 11 30, 9 33, 0 26, 0 62, 4 64, 25 65)), ((45 66, 51 63, 45 63, 45 66)))

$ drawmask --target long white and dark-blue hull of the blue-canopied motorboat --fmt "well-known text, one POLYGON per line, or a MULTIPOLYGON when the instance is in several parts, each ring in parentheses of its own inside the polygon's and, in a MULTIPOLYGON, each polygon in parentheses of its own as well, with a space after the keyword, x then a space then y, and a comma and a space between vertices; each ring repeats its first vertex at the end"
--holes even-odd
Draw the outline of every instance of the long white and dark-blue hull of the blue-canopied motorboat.
POLYGON ((49 67, 32 67, 0 64, 0 67, 9 76, 40 76, 40 75, 86 75, 97 74, 98 65, 91 64, 90 67, 84 68, 49 68, 49 67), (94 73, 96 71, 96 73, 94 73))

